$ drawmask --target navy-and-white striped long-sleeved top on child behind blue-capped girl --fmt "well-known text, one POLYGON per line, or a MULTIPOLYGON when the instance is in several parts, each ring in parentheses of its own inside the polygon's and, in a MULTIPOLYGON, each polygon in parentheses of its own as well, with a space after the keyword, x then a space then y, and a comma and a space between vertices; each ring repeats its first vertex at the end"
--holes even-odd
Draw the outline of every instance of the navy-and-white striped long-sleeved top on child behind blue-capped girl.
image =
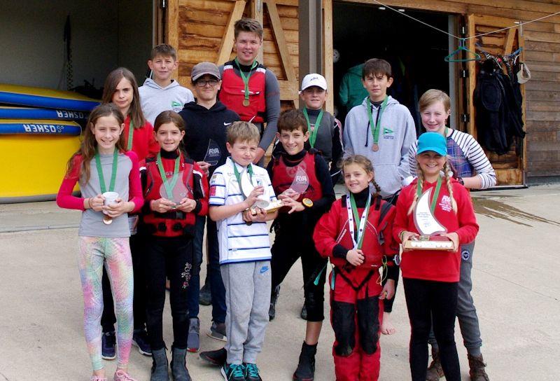
MULTIPOLYGON (((481 180, 481 189, 491 188, 496 185, 496 172, 490 160, 486 158, 484 150, 472 135, 458 130, 451 130, 447 137, 447 156, 449 162, 457 172, 458 177, 478 176, 481 180)), ((416 150, 418 141, 414 141, 408 150, 410 173, 416 176, 416 150)))

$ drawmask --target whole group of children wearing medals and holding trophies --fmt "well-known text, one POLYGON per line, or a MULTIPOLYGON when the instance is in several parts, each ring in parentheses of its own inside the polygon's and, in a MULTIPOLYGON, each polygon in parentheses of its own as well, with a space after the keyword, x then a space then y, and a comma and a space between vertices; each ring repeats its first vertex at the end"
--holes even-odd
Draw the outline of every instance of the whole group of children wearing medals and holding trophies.
POLYGON ((409 111, 387 95, 390 65, 368 60, 362 72, 368 96, 351 109, 341 133, 323 111, 327 84, 319 74, 302 81, 302 111, 279 113, 276 77, 255 60, 261 45, 258 22, 236 22, 237 57, 219 68, 193 67, 196 97, 171 79, 178 62, 167 45, 154 48, 148 61, 154 78, 141 88, 127 69, 109 74, 57 196, 60 207, 83 211, 78 268, 91 380, 106 380, 102 357, 117 356, 115 341, 115 381, 134 380, 127 373, 132 344, 153 357, 151 381, 169 380, 166 279, 170 370, 176 381, 191 380, 186 352, 200 345, 205 226, 211 335, 226 344, 201 357, 221 365, 224 380, 261 380, 257 356, 279 285, 298 258, 307 327, 294 380, 314 380, 329 262, 337 380, 378 379, 379 335, 394 332, 389 317, 399 268, 412 328, 412 380, 460 380, 456 316, 471 379, 488 380, 470 297, 478 226, 465 187, 488 188, 496 179, 475 139, 445 127, 449 97, 438 90, 423 95, 428 132, 416 141, 409 111), (274 137, 265 169, 258 164, 274 137), (335 200, 331 175, 338 169, 346 194, 335 200), (80 197, 72 193, 76 183, 80 197), (414 209, 426 192, 453 249, 400 251, 399 244, 419 236, 414 209), (272 247, 267 221, 274 221, 272 247), (426 368, 428 340, 433 363, 426 368))

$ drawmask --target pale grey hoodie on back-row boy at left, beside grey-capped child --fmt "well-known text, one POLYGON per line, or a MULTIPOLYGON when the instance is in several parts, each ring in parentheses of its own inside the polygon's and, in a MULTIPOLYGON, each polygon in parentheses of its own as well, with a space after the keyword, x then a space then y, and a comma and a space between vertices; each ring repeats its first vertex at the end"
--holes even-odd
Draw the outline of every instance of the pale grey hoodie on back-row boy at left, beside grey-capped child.
POLYGON ((172 81, 167 87, 162 88, 153 79, 147 78, 138 91, 142 112, 152 125, 155 118, 163 111, 173 110, 178 113, 185 104, 195 100, 193 92, 183 88, 177 81, 172 81))

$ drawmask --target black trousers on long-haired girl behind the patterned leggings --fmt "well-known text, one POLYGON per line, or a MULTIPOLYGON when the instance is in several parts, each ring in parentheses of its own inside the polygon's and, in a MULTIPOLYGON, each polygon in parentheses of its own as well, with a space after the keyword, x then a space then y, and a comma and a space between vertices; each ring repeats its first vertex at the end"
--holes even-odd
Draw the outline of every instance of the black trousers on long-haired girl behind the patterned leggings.
MULTIPOLYGON (((144 236, 135 234, 130 236, 130 252, 132 254, 132 271, 134 272, 134 299, 132 310, 134 313, 134 329, 144 329, 146 326, 146 274, 144 271, 144 236)), ((115 307, 111 284, 105 266, 103 266, 103 314, 101 326, 103 332, 115 331, 115 307)))

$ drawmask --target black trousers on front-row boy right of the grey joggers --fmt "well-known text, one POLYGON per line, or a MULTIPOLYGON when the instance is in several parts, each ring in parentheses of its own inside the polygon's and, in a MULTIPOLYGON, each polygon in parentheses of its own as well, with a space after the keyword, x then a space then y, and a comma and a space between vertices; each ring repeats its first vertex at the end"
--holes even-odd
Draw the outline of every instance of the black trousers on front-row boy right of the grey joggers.
POLYGON ((276 238, 271 249, 272 260, 270 261, 272 290, 282 283, 297 258, 301 257, 307 321, 323 321, 325 319, 323 303, 325 301, 324 286, 327 259, 318 254, 311 237, 309 237, 309 240, 300 240, 299 237, 301 237, 301 233, 294 233, 293 230, 279 229, 276 231, 276 238), (319 272, 321 272, 321 276, 318 284, 315 285, 314 280, 319 272))

